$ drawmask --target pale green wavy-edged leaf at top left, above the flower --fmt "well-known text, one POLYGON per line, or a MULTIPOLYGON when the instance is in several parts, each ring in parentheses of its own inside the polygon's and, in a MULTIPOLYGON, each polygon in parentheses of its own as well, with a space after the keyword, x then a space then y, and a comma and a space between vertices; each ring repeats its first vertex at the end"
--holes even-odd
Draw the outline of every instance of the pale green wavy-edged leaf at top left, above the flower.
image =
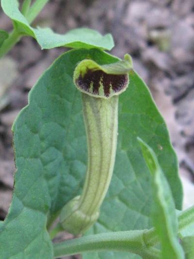
POLYGON ((41 49, 52 49, 55 47, 69 48, 99 48, 111 50, 114 46, 113 37, 110 34, 100 35, 98 32, 87 29, 75 29, 65 35, 54 33, 51 29, 34 29, 18 9, 16 0, 1 0, 4 13, 10 17, 21 34, 34 37, 41 49))

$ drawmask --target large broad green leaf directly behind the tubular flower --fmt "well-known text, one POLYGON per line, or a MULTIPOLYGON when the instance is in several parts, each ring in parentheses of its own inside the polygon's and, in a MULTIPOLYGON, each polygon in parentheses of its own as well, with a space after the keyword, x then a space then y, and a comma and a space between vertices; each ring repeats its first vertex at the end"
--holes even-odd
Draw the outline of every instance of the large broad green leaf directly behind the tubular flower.
MULTIPOLYGON (((46 213, 55 214, 81 192, 87 145, 81 94, 73 85, 73 71, 86 57, 101 65, 118 60, 97 49, 66 52, 32 88, 29 105, 16 119, 13 127, 17 167, 15 191, 9 215, 3 226, 0 225, 0 255, 4 258, 32 258, 33 251, 36 252, 34 259, 51 258, 45 229, 46 213), (10 248, 5 251, 3 247, 10 248), (26 247, 29 257, 25 254, 26 247)), ((113 179, 100 218, 87 234, 143 229, 151 225, 150 173, 137 136, 154 149, 177 207, 181 207, 177 158, 165 123, 143 81, 135 72, 129 77, 129 87, 119 101, 119 135, 113 179)), ((84 258, 139 257, 100 252, 89 253, 84 258)))

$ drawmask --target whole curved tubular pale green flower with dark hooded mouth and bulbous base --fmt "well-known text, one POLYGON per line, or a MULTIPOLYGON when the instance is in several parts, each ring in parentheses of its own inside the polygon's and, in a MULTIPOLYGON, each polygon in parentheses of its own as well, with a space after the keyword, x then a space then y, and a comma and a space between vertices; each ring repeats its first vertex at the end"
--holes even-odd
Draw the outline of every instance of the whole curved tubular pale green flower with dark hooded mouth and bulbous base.
POLYGON ((74 83, 81 91, 87 135, 88 166, 81 196, 68 202, 60 214, 62 227, 78 235, 93 225, 109 188, 116 154, 118 95, 129 84, 131 58, 110 65, 81 61, 74 71, 74 83))

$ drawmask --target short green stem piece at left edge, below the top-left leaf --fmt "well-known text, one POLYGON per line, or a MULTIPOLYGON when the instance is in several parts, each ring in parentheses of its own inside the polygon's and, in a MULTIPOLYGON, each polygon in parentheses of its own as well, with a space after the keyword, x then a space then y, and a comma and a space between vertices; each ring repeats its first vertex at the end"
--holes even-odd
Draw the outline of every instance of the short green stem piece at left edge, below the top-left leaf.
POLYGON ((3 42, 0 48, 0 58, 3 57, 7 52, 9 52, 14 45, 19 41, 21 35, 14 29, 10 34, 9 37, 3 42))

